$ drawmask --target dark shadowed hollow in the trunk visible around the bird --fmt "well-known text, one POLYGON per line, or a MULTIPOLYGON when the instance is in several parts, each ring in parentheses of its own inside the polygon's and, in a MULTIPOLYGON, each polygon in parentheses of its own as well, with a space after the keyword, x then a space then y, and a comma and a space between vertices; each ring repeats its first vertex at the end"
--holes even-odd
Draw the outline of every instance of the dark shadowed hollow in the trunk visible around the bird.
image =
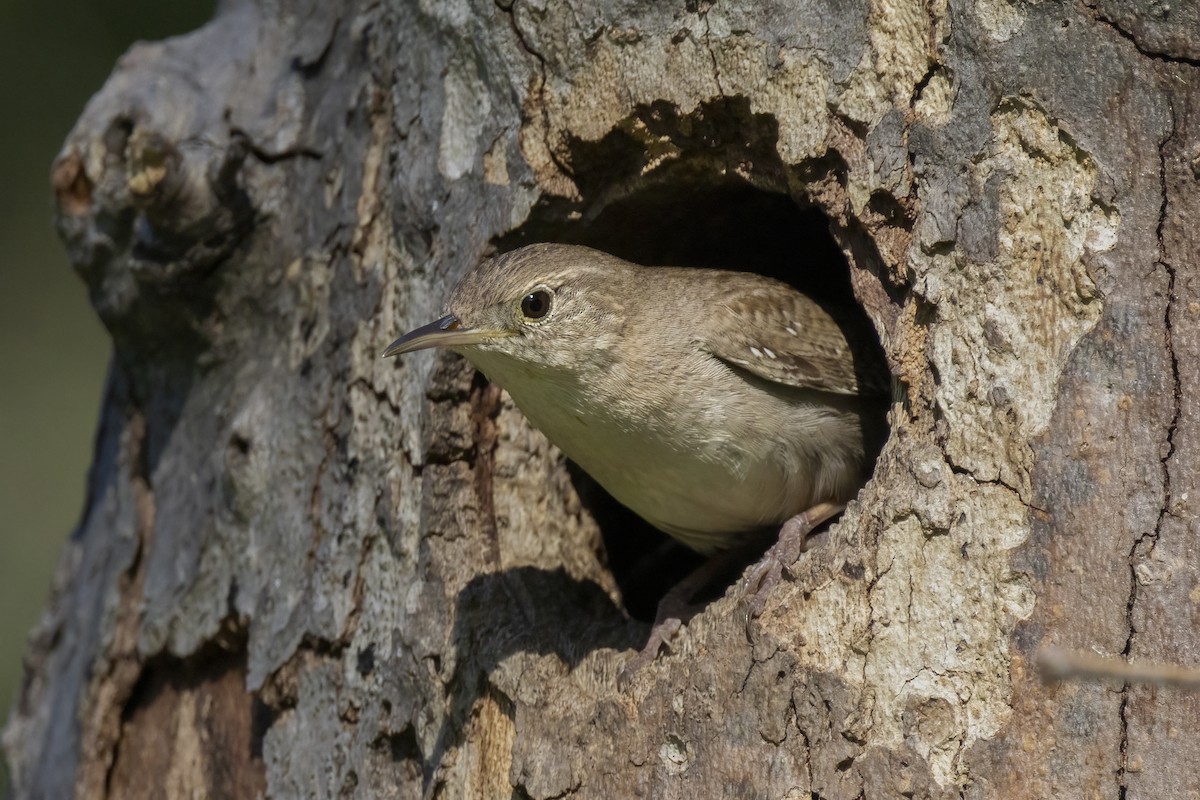
MULTIPOLYGON (((539 241, 584 245, 646 265, 758 272, 822 303, 863 313, 851 289, 850 264, 824 213, 736 176, 648 184, 590 216, 546 205, 496 247, 504 252, 539 241)), ((883 420, 880 426, 882 444, 883 420)), ((626 609, 653 620, 661 596, 703 558, 622 506, 574 465, 571 476, 604 534, 626 609)), ((774 536, 763 541, 766 546, 774 536)), ((727 585, 714 585, 712 596, 727 585)))

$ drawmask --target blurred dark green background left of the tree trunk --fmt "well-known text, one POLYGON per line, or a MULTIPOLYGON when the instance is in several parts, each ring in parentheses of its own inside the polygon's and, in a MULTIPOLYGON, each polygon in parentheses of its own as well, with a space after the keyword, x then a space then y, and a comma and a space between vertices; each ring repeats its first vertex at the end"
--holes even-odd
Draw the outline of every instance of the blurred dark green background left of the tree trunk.
POLYGON ((109 353, 54 233, 50 162, 133 41, 193 30, 212 6, 0 0, 0 720, 83 509, 109 353))

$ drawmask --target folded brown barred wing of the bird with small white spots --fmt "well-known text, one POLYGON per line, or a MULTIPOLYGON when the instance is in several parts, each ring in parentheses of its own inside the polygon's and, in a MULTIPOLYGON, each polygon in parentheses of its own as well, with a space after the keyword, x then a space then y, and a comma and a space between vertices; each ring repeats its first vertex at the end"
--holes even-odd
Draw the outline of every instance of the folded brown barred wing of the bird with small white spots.
POLYGON ((852 345, 834 317, 791 287, 772 283, 740 290, 721 300, 714 315, 718 324, 703 345, 758 378, 838 395, 889 390, 874 337, 851 329, 850 335, 862 342, 852 345))

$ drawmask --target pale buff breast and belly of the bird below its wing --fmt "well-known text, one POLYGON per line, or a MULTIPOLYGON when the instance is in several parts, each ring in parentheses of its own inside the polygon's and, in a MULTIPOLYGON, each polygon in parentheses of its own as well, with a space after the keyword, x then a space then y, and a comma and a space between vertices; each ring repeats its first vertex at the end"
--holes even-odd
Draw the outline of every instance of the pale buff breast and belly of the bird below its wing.
POLYGON ((852 451, 860 437, 852 423, 839 423, 845 446, 815 446, 814 432, 829 429, 824 407, 788 408, 778 431, 754 429, 755 411, 734 422, 680 414, 665 426, 551 381, 518 383, 510 393, 536 428, 619 503, 702 553, 829 499, 839 487, 829 485, 826 451, 845 453, 845 467, 833 471, 847 475, 835 482, 853 486, 850 473, 857 475, 852 451))

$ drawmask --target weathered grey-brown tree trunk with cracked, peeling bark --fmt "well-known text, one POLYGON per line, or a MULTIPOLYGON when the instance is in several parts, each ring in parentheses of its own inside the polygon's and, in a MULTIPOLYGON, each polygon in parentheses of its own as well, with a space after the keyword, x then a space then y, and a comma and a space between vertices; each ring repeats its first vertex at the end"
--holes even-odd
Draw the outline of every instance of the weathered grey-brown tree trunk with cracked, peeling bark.
POLYGON ((53 174, 116 355, 16 796, 1200 792, 1195 694, 1036 670, 1200 662, 1198 11, 1150 6, 232 0, 133 48, 53 174), (542 239, 852 287, 902 383, 752 640, 731 590, 625 692, 661 540, 378 357, 542 239))

